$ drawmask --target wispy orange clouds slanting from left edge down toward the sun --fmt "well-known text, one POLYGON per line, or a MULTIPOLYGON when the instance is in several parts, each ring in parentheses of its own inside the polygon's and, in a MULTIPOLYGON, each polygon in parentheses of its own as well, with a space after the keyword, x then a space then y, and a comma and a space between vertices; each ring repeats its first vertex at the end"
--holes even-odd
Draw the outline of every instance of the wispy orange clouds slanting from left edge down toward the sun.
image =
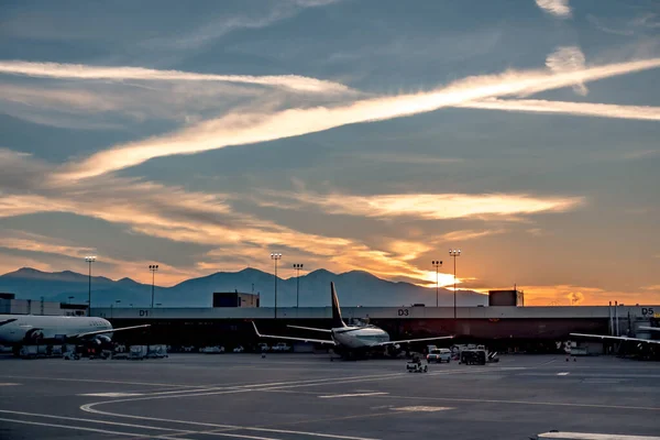
MULTIPOLYGON (((263 260, 263 255, 273 250, 285 250, 288 255, 305 255, 306 264, 316 263, 319 267, 330 270, 362 268, 385 277, 426 276, 425 271, 406 261, 408 256, 417 255, 426 249, 419 243, 415 248, 416 241, 410 241, 408 246, 389 246, 388 243, 393 240, 384 240, 374 245, 322 232, 301 232, 237 211, 232 202, 239 196, 190 193, 139 179, 96 178, 85 185, 54 185, 47 179, 33 180, 29 176, 42 173, 47 167, 36 161, 26 161, 23 155, 3 154, 11 160, 12 168, 18 174, 25 174, 28 177, 23 180, 10 179, 12 186, 8 189, 21 194, 0 194, 0 216, 69 212, 125 226, 130 233, 218 249, 217 252, 202 256, 200 266, 190 268, 189 272, 200 272, 202 267, 242 268, 241 264, 243 267, 255 265, 255 261, 263 260)), ((245 200, 244 197, 239 198, 245 200)), ((13 249, 30 252, 51 251, 69 255, 84 252, 82 249, 53 240, 44 239, 47 245, 42 244, 40 248, 40 240, 36 238, 11 239, 7 243, 13 249)), ((106 256, 106 261, 112 261, 111 258, 106 256)), ((256 263, 257 266, 258 264, 256 263)), ((180 275, 178 279, 183 277, 180 275)))

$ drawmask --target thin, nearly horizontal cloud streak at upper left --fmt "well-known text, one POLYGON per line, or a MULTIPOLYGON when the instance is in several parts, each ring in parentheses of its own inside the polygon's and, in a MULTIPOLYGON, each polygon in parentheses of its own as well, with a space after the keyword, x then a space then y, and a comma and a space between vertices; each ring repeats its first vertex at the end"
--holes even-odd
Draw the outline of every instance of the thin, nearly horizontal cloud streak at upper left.
POLYGON ((348 92, 339 82, 298 75, 213 75, 180 70, 156 70, 129 66, 88 66, 84 64, 31 63, 21 61, 0 62, 0 74, 58 79, 108 79, 150 81, 227 81, 283 87, 312 94, 348 92))

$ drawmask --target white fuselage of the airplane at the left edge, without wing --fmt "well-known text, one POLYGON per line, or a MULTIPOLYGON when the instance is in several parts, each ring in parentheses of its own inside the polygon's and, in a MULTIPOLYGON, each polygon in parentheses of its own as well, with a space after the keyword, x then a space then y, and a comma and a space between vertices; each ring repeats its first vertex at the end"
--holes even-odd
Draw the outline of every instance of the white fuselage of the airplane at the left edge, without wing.
MULTIPOLYGON (((43 339, 52 339, 63 334, 85 333, 98 330, 111 330, 112 324, 103 318, 41 316, 41 315, 0 315, 0 344, 16 345, 25 343, 29 333, 40 332, 43 339)), ((111 333, 107 333, 111 336, 111 333)))

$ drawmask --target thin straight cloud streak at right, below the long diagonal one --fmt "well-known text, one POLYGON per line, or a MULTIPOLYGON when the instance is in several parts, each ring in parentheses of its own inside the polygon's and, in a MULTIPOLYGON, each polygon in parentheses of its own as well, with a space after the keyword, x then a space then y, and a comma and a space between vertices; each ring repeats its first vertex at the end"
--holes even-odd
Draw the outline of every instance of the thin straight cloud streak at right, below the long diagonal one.
POLYGON ((481 101, 465 102, 454 107, 482 110, 558 113, 596 118, 660 121, 660 107, 647 106, 619 106, 613 103, 546 101, 541 99, 492 98, 481 101))

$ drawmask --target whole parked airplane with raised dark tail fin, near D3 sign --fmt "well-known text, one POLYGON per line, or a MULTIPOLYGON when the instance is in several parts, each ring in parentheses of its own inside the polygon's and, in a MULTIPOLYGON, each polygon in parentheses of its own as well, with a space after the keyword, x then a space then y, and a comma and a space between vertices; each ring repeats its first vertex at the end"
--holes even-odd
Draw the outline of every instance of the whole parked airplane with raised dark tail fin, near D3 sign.
POLYGON ((262 334, 258 332, 256 324, 252 321, 254 331, 260 338, 273 338, 273 339, 287 339, 292 341, 301 342, 315 342, 324 345, 331 345, 333 351, 340 354, 342 358, 354 358, 360 354, 366 354, 370 351, 376 349, 385 349, 387 346, 394 346, 398 349, 403 343, 409 342, 421 342, 421 341, 437 341, 441 339, 452 339, 453 336, 448 337, 433 337, 433 338, 420 338, 420 339, 403 339, 397 341, 391 341, 389 334, 373 324, 365 326, 346 326, 341 317, 341 309, 339 307, 339 299, 334 289, 334 283, 330 283, 330 292, 332 299, 332 328, 331 329, 318 329, 314 327, 300 327, 300 326, 287 326, 294 329, 310 330, 321 333, 330 334, 331 339, 310 339, 310 338, 295 338, 295 337, 283 337, 275 334, 262 334))

